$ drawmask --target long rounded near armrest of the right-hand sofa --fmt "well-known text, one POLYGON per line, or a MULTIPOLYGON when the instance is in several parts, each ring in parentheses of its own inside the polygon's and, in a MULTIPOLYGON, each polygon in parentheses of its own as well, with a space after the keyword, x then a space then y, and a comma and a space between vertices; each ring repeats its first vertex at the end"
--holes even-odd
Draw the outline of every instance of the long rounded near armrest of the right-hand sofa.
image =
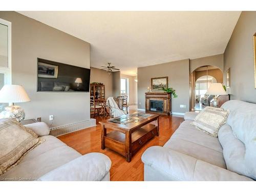
MULTIPOLYGON (((245 181, 248 177, 198 160, 166 147, 147 148, 141 157, 143 163, 161 172, 169 180, 177 181, 245 181)), ((155 177, 157 178, 157 176, 155 177)), ((161 178, 161 177, 160 177, 161 178)))

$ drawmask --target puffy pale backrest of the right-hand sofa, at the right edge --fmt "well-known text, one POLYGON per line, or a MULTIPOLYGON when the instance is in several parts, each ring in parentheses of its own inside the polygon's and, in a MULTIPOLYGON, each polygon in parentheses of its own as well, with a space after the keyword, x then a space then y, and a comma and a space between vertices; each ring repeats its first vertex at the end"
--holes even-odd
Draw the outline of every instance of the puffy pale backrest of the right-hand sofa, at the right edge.
POLYGON ((228 164, 227 168, 236 170, 237 173, 256 180, 256 104, 230 100, 221 107, 230 111, 227 124, 231 127, 233 135, 230 135, 230 129, 228 131, 224 127, 225 130, 223 132, 228 132, 226 133, 228 137, 222 137, 220 141, 224 147, 224 158, 228 164), (224 144, 228 143, 230 138, 236 147, 224 144), (243 144, 234 138, 237 138, 243 144), (231 148, 228 149, 228 147, 231 148))

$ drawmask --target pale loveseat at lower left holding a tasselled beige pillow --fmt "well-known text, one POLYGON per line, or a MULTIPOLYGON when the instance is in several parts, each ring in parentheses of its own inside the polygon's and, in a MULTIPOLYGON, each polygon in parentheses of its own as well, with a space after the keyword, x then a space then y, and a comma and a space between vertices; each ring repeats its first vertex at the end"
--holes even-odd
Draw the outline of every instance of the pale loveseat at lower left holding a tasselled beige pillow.
POLYGON ((54 136, 44 122, 25 125, 45 139, 0 176, 4 181, 109 181, 111 160, 101 153, 81 155, 54 136))

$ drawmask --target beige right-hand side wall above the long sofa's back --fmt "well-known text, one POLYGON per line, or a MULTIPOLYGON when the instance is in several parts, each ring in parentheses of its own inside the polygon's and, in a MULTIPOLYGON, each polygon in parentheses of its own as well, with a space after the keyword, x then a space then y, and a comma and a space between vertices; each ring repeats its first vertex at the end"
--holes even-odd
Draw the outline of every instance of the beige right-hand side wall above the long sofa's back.
POLYGON ((243 11, 233 30, 224 52, 224 75, 230 68, 230 88, 227 93, 231 99, 256 103, 254 89, 253 34, 256 32, 256 11, 243 11))

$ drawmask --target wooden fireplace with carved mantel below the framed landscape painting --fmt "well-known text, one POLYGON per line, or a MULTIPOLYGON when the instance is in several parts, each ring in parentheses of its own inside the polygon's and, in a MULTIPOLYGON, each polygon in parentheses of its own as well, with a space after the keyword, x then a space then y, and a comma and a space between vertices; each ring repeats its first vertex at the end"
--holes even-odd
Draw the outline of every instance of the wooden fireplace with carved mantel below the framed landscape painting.
MULTIPOLYGON (((161 115, 172 114, 172 95, 165 92, 146 92, 145 93, 145 110, 146 113, 156 113, 161 115), (162 101, 162 111, 153 111, 153 101, 162 101)), ((158 104, 160 102, 157 102, 158 104)), ((160 108, 159 108, 160 109, 160 108)))

